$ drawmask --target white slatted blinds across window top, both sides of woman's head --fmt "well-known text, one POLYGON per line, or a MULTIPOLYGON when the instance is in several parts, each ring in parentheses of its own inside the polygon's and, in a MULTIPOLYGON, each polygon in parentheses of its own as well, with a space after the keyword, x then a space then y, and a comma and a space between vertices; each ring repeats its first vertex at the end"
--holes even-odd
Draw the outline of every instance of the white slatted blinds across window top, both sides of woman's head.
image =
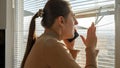
MULTIPOLYGON (((47 0, 37 0, 37 1, 27 1, 24 0, 24 9, 35 13, 36 10, 42 9, 47 2, 47 0), (32 4, 32 5, 30 5, 32 4), (28 8, 27 8, 28 7, 28 8), (32 9, 33 7, 36 7, 32 9)), ((91 14, 91 16, 95 16, 97 10, 102 7, 102 12, 110 12, 114 11, 114 0, 70 0, 69 1, 72 7, 73 12, 78 16, 91 14)), ((114 12, 110 12, 109 14, 113 14, 114 12)))

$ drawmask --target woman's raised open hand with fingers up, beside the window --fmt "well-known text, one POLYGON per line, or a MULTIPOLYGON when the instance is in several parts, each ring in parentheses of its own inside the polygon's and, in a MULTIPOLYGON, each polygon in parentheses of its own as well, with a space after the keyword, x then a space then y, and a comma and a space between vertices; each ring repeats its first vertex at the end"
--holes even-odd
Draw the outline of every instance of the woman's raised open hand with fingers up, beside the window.
POLYGON ((82 35, 80 36, 82 38, 83 43, 85 44, 86 48, 96 48, 97 44, 97 37, 96 37, 96 27, 94 23, 89 27, 87 31, 87 38, 85 39, 82 35))

